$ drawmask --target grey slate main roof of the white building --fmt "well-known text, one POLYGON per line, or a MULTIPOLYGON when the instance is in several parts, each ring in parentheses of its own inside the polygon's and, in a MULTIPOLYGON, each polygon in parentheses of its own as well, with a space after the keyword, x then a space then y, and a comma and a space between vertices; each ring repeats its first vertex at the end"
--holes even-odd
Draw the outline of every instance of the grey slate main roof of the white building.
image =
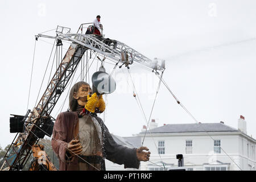
MULTIPOLYGON (((223 132, 240 131, 223 123, 192 123, 192 124, 168 124, 147 131, 147 133, 195 133, 195 132, 223 132)), ((141 132, 145 133, 145 132, 141 132)))

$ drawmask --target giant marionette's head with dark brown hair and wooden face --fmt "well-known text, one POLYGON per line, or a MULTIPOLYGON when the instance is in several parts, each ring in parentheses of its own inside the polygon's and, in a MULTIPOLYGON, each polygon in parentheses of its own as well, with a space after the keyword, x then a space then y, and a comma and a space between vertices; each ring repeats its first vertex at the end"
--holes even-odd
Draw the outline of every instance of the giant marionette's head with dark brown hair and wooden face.
POLYGON ((92 93, 90 85, 84 81, 72 86, 69 93, 69 109, 76 111, 77 105, 85 106, 88 94, 92 93))

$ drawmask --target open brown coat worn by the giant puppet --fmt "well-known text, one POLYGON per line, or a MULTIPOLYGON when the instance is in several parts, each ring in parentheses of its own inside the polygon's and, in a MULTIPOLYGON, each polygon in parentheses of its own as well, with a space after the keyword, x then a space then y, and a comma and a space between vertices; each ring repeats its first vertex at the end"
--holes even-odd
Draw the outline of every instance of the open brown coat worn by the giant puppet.
MULTIPOLYGON (((104 136, 103 155, 104 158, 117 163, 125 164, 125 168, 139 168, 136 148, 128 148, 117 144, 108 128, 101 118, 95 117, 101 125, 102 135, 104 136)), ((57 116, 52 133, 52 149, 56 153, 60 162, 60 171, 79 170, 78 157, 74 156, 72 160, 66 159, 66 148, 68 143, 76 135, 79 124, 78 114, 76 112, 64 112, 57 116)), ((102 164, 105 169, 105 162, 102 164)))

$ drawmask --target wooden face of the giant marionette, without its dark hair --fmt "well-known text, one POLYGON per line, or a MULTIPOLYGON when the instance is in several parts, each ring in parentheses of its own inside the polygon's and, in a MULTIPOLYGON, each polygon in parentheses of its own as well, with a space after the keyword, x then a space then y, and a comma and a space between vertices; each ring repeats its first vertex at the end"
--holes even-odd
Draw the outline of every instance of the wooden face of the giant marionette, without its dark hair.
POLYGON ((73 98, 75 98, 79 105, 85 106, 87 102, 87 96, 92 92, 92 89, 89 85, 82 84, 78 92, 74 92, 73 98))

